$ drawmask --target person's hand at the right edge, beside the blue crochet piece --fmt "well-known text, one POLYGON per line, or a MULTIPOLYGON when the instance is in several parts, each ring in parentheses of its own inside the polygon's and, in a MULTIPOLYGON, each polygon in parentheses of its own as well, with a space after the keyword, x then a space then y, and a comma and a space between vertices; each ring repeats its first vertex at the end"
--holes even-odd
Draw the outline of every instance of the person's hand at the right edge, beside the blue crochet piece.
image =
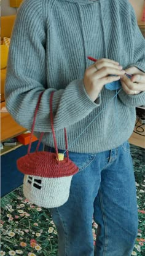
POLYGON ((131 78, 127 78, 126 75, 121 76, 120 81, 122 84, 122 89, 126 92, 126 94, 139 94, 140 92, 145 91, 145 73, 136 68, 135 66, 131 66, 125 70, 128 74, 133 74, 131 78))

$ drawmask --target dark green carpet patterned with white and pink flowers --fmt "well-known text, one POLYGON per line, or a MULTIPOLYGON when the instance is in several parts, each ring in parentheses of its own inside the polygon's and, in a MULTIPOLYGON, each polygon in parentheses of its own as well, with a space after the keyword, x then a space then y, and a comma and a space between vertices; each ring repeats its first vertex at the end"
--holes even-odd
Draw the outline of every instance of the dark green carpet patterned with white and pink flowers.
MULTIPOLYGON (((131 255, 145 255, 144 234, 144 150, 130 145, 138 199, 138 236, 131 255)), ((78 219, 79 222, 79 219, 78 219)), ((1 199, 0 255, 56 256, 57 230, 47 209, 37 207, 23 198, 22 186, 1 199)), ((97 225, 92 222, 94 241, 97 225)), ((117 255, 116 255, 117 256, 117 255)))

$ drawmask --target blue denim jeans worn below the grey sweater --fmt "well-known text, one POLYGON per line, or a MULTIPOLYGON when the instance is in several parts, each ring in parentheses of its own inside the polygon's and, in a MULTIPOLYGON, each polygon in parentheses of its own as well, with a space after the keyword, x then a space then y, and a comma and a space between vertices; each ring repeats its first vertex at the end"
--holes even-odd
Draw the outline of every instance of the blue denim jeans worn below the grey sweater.
POLYGON ((79 167, 69 199, 50 209, 58 231, 58 255, 130 256, 138 232, 138 209, 129 143, 96 154, 69 152, 69 158, 79 167), (92 217, 98 224, 95 250, 92 217))

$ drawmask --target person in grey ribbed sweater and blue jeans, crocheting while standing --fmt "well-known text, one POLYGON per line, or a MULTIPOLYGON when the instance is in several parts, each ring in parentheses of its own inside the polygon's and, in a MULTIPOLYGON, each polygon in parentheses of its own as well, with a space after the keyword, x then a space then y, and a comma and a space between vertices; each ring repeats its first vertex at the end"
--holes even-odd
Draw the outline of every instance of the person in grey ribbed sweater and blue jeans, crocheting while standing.
POLYGON ((69 158, 79 167, 68 201, 50 209, 59 256, 131 255, 138 212, 127 140, 135 126, 135 107, 144 105, 144 72, 145 42, 126 0, 27 0, 18 10, 7 67, 7 110, 31 129, 45 90, 35 134, 45 132, 45 150, 53 151, 49 99, 55 91, 58 148, 65 150, 66 127, 69 158), (88 55, 98 61, 90 62, 88 55), (119 79, 116 102, 111 100, 116 90, 105 84, 119 79), (98 224, 95 252, 92 217, 98 224))

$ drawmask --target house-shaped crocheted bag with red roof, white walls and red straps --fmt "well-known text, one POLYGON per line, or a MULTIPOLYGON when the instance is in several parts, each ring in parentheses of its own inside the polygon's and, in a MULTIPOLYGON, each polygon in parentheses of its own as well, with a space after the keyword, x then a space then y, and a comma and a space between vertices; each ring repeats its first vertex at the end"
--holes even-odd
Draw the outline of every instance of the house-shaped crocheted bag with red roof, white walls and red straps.
POLYGON ((53 128, 52 97, 50 95, 50 121, 55 145, 55 153, 38 151, 44 132, 41 133, 36 151, 30 153, 31 141, 34 132, 36 114, 41 101, 41 95, 37 102, 34 114, 31 138, 28 153, 17 160, 17 167, 20 172, 25 174, 23 180, 23 194, 33 204, 37 206, 53 208, 65 204, 69 198, 72 175, 78 172, 78 167, 69 159, 68 142, 65 130, 66 157, 58 153, 55 131, 53 128))

